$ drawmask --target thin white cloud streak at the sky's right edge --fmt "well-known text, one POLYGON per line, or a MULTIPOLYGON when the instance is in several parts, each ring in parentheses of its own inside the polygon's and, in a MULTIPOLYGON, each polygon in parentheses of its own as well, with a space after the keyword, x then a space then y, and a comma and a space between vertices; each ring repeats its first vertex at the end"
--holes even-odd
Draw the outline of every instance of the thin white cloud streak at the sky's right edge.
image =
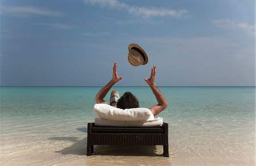
POLYGON ((239 28, 246 31, 249 35, 255 35, 255 26, 247 23, 241 23, 232 19, 212 20, 212 23, 221 28, 239 28))

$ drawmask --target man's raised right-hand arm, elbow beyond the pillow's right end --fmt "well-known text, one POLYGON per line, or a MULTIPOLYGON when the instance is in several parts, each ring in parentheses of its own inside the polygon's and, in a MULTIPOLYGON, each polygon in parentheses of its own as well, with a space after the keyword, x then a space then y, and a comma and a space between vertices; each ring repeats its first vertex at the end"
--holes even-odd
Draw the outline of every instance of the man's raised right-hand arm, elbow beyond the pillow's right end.
POLYGON ((162 92, 158 89, 158 87, 155 85, 155 73, 156 73, 156 66, 154 65, 153 68, 151 68, 151 75, 150 78, 144 78, 144 80, 147 82, 148 86, 150 86, 152 92, 155 94, 156 100, 158 101, 158 105, 154 105, 150 107, 151 112, 154 115, 159 114, 161 111, 167 108, 168 103, 166 101, 166 98, 163 96, 162 92))

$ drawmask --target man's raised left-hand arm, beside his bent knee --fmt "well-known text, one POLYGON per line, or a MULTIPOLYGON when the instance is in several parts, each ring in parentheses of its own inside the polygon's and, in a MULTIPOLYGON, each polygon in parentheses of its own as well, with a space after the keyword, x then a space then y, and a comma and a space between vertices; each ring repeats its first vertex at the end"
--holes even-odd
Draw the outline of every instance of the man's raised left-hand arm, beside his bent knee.
POLYGON ((105 85, 100 90, 100 92, 98 92, 98 94, 95 97, 96 103, 108 104, 106 101, 104 101, 104 97, 109 92, 109 90, 112 88, 112 86, 114 86, 115 83, 117 83, 119 80, 122 80, 122 78, 123 77, 118 77, 117 76, 117 63, 114 63, 112 80, 110 80, 110 82, 107 85, 105 85))

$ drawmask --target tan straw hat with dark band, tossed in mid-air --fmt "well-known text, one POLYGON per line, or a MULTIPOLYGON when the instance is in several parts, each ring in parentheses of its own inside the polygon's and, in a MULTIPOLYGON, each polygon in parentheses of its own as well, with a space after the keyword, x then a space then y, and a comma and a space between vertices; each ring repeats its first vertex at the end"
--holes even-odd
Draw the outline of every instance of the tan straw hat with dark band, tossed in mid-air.
POLYGON ((128 61, 131 65, 138 67, 146 65, 148 61, 147 53, 138 44, 131 43, 129 45, 128 61))

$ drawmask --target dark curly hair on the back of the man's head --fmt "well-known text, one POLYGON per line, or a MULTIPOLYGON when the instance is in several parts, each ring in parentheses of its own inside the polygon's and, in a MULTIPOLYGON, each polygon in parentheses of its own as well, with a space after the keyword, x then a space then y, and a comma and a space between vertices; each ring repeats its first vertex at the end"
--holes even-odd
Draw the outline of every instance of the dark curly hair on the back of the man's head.
POLYGON ((123 94, 117 102, 117 107, 119 109, 131 109, 139 107, 138 99, 130 92, 123 94))

